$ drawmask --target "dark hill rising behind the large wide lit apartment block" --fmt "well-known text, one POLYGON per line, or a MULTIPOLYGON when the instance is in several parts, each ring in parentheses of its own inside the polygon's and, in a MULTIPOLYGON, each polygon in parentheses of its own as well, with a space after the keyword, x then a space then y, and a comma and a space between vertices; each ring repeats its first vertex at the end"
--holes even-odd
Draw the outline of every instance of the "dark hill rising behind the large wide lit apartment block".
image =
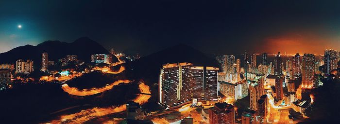
POLYGON ((194 66, 218 67, 218 62, 204 53, 185 44, 178 44, 129 63, 133 78, 149 80, 149 84, 158 81, 162 65, 167 63, 190 62, 194 66))

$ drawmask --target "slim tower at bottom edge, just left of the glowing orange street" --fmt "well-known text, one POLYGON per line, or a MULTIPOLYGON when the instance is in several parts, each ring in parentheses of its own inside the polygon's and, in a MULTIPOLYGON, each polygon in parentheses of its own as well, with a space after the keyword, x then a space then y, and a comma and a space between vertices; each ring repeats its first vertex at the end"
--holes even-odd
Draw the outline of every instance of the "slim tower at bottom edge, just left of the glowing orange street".
POLYGON ((259 124, 267 124, 267 95, 262 95, 257 101, 257 116, 259 124))

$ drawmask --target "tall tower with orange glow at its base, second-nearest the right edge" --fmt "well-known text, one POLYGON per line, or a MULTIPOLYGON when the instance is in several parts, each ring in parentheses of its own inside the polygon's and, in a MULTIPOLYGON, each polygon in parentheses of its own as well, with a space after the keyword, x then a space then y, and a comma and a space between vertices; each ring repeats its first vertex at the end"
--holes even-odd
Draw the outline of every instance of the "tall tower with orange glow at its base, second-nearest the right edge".
POLYGON ((312 87, 313 85, 314 64, 315 56, 313 54, 304 54, 302 58, 302 84, 305 87, 312 87))

